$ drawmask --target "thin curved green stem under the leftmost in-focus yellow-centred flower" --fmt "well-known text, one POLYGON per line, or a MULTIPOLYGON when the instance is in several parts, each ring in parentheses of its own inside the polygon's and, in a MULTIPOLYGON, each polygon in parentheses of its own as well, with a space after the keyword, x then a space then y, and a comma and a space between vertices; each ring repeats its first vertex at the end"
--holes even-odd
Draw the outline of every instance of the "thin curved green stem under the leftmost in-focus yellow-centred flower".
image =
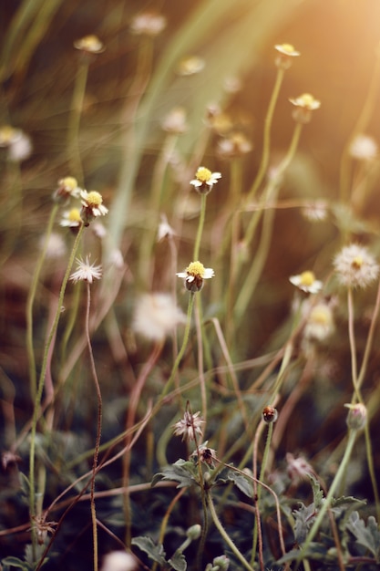
POLYGON ((58 210, 58 204, 54 204, 52 211, 50 213, 50 218, 47 223, 46 237, 44 248, 38 258, 36 270, 33 275, 32 284, 30 285, 29 294, 26 300, 26 353, 27 360, 29 363, 29 381, 30 381, 30 393, 32 399, 36 399, 36 357, 33 347, 33 305, 36 299, 36 289, 39 281, 39 276, 41 275, 42 266, 45 262, 47 244, 50 234, 53 230, 53 224, 56 219, 56 213, 58 210))

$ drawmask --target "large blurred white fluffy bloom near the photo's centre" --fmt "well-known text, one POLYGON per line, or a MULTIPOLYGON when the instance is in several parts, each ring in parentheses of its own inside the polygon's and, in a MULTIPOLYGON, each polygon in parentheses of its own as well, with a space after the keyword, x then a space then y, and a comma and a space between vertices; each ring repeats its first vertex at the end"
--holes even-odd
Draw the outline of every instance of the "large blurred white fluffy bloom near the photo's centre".
POLYGON ((133 329, 152 341, 163 341, 186 316, 169 294, 145 294, 140 296, 133 317, 133 329))

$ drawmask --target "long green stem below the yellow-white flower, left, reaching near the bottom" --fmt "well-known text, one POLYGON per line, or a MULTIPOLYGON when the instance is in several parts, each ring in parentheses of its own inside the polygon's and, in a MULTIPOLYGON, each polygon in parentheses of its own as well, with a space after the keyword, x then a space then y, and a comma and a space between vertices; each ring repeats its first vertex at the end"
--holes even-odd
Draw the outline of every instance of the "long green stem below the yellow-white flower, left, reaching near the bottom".
MULTIPOLYGON (((35 402, 34 402, 32 424, 31 424, 31 429, 30 429, 29 511, 30 511, 31 517, 33 517, 36 514, 36 504, 35 504, 35 501, 36 501, 36 496, 35 496, 36 426, 37 426, 37 420, 38 420, 39 407, 40 407, 40 403, 41 403, 41 399, 42 399, 42 393, 43 393, 44 385, 45 385, 45 377, 46 377, 46 369, 47 369, 49 349, 50 349, 51 343, 53 341, 53 338, 56 335, 56 329, 58 327, 59 317, 61 316, 61 313, 62 313, 62 306, 63 306, 63 300, 64 300, 65 291, 66 291, 66 287, 67 287, 68 277, 70 275, 72 265, 74 264, 74 259, 75 259, 76 253, 77 253, 77 247, 78 247, 78 244, 79 244, 80 239, 82 237, 83 230, 84 230, 84 226, 82 225, 79 228, 76 240, 75 240, 74 245, 73 245, 73 249, 71 251, 71 254, 70 254, 70 257, 68 260, 66 274, 63 278, 61 289, 59 292, 58 305, 56 308, 56 317, 54 319, 50 333, 49 333, 47 340, 46 340, 46 345, 45 345, 45 349, 44 349, 44 356, 43 356, 42 366, 41 366, 41 372, 39 375, 38 384, 37 384, 37 388, 36 388, 36 398, 35 398, 35 402)), ((34 551, 36 551, 36 534, 33 534, 33 546, 34 546, 34 551)))

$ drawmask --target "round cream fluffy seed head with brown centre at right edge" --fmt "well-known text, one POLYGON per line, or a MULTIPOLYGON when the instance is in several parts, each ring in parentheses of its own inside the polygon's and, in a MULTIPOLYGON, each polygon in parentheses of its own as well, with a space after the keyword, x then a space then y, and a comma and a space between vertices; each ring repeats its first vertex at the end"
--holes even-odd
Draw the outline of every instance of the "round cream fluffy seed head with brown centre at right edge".
POLYGON ((340 283, 346 287, 365 288, 379 275, 375 258, 359 244, 344 246, 334 257, 334 269, 340 283))

